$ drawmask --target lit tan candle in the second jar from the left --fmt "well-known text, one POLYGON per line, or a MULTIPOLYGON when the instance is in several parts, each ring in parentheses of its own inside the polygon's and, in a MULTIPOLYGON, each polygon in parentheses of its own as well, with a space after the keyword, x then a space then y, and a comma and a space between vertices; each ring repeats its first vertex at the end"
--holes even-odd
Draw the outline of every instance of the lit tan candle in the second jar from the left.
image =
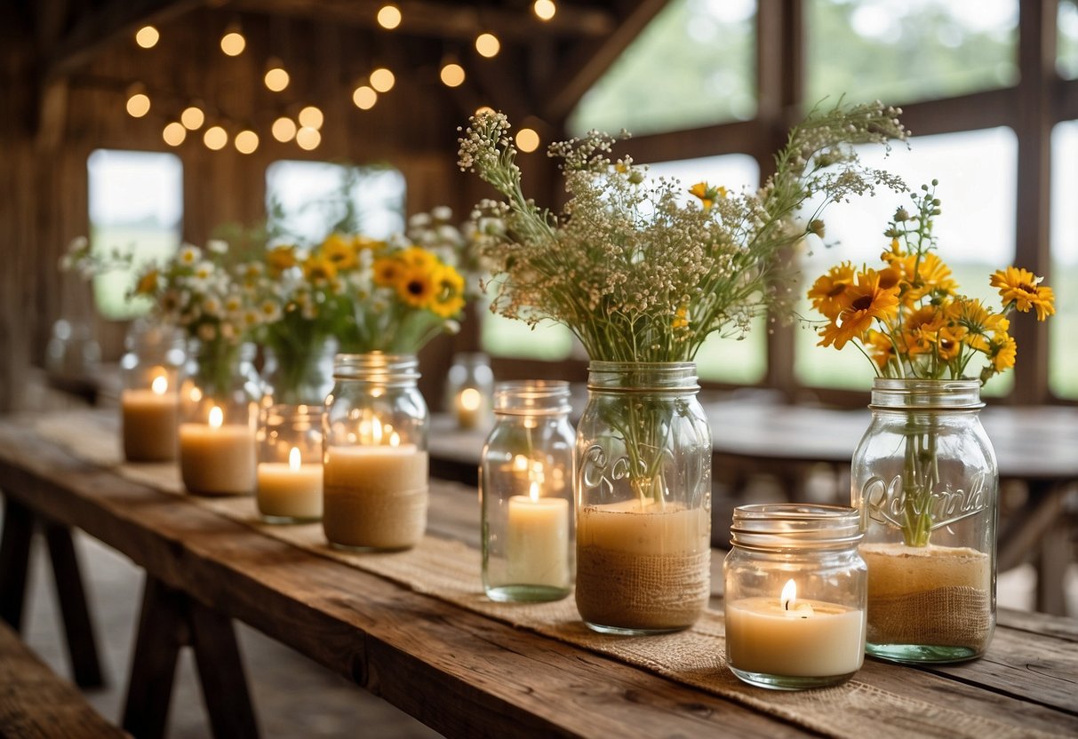
POLYGON ((254 430, 224 423, 213 406, 208 423, 180 424, 180 473, 191 492, 244 494, 254 490, 254 430))

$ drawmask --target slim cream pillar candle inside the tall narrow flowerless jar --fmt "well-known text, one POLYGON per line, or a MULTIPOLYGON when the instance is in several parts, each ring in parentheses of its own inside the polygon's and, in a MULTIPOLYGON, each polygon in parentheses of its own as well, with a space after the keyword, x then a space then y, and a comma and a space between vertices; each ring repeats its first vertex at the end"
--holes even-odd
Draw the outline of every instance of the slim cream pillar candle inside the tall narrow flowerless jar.
POLYGON ((569 587, 569 501, 529 494, 509 499, 506 578, 513 585, 569 587))

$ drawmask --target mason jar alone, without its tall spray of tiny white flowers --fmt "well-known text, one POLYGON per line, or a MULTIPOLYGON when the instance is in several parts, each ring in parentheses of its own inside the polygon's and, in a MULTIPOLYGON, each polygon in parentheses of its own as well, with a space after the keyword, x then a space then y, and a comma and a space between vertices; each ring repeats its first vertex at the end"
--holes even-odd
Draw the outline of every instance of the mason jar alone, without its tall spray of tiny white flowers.
POLYGON ((710 596, 711 433, 691 362, 592 362, 577 427, 577 608, 594 630, 688 628, 710 596))

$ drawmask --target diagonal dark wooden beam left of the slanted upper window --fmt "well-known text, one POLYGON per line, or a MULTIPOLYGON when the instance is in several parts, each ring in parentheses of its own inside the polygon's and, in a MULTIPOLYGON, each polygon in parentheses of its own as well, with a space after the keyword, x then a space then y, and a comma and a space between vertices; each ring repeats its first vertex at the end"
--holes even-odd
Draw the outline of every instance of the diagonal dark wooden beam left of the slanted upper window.
POLYGON ((602 39, 580 41, 557 72, 548 80, 542 116, 561 125, 577 102, 610 68, 610 65, 666 6, 668 0, 634 0, 619 3, 610 32, 602 39))

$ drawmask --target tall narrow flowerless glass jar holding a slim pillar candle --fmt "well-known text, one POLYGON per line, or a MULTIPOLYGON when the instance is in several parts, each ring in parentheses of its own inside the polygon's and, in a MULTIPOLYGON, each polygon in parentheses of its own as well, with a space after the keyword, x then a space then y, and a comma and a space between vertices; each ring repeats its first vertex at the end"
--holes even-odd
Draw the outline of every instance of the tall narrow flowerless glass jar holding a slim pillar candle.
POLYGON ((483 589, 490 600, 559 600, 572 588, 569 384, 500 382, 483 446, 483 589))

